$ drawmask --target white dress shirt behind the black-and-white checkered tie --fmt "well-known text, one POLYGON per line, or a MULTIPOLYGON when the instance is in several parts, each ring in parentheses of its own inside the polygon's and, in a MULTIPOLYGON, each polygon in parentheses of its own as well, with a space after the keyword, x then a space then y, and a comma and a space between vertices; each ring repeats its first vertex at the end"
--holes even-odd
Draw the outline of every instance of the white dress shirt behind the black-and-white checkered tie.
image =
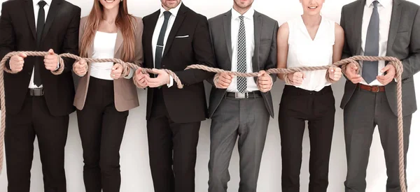
MULTIPOLYGON (((254 22, 253 15, 255 10, 250 8, 244 13, 244 25, 245 25, 245 38, 246 38, 246 73, 252 73, 252 58, 255 48, 255 38, 254 38, 254 22)), ((241 20, 239 19, 241 13, 238 13, 237 10, 232 8, 232 21, 231 21, 231 39, 232 39, 232 70, 237 71, 238 66, 238 34, 239 34, 239 24, 241 20)), ((232 79, 228 89, 228 92, 239 92, 237 89, 237 77, 232 79)), ((257 84, 255 83, 254 77, 246 77, 246 91, 258 91, 257 84)))

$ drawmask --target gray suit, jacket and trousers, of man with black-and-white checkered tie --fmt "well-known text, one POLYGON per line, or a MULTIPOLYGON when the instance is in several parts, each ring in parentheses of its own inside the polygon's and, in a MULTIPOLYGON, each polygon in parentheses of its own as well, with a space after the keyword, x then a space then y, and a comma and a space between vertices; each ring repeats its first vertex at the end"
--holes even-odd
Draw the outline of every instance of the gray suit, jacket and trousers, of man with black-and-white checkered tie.
MULTIPOLYGON (((231 39, 232 12, 229 10, 209 20, 216 67, 232 68, 231 39)), ((255 11, 253 14, 255 50, 253 72, 276 67, 276 36, 279 24, 255 11)), ((237 33, 237 31, 232 31, 237 33)), ((276 75, 271 75, 273 83, 276 75)), ((230 180, 228 166, 239 135, 240 176, 239 191, 255 191, 262 151, 267 135, 269 117, 274 117, 272 96, 268 91, 248 99, 229 98, 226 89, 217 89, 213 78, 209 115, 211 122, 211 154, 209 161, 209 191, 226 191, 230 180)), ((255 78, 256 82, 256 78, 255 78)))

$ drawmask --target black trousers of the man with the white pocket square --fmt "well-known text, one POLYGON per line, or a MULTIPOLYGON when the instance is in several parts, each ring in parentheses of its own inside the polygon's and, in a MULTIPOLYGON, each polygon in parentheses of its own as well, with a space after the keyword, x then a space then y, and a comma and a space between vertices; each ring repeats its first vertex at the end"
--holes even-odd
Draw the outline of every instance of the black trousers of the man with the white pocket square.
POLYGON ((193 192, 201 122, 175 123, 169 118, 162 90, 153 91, 147 134, 155 192, 193 192))

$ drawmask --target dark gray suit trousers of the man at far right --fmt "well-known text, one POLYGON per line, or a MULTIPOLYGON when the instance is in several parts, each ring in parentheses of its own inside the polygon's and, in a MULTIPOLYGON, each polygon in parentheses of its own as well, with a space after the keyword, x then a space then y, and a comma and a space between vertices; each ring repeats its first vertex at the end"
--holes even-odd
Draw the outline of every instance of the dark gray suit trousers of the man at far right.
MULTIPOLYGON (((412 115, 403 117, 402 121, 406 160, 412 115)), ((365 192, 366 169, 372 135, 376 126, 378 126, 385 155, 388 176, 386 192, 401 191, 398 171, 398 118, 391 111, 385 92, 372 93, 356 89, 344 108, 344 138, 347 156, 347 176, 344 182, 346 192, 365 192)))

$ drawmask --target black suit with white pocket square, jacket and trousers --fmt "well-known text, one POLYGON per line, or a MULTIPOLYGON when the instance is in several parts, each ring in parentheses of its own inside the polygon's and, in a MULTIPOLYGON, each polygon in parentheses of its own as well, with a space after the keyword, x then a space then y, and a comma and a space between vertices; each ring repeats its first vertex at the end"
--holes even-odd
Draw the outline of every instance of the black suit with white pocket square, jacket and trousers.
MULTIPOLYGON (((160 10, 143 18, 144 65, 154 68, 152 38, 160 10)), ((153 184, 156 192, 195 189, 196 147, 200 121, 207 117, 203 80, 212 74, 184 69, 192 64, 214 66, 207 18, 180 5, 162 54, 162 68, 174 71, 183 82, 149 88, 146 119, 153 184), (188 36, 186 38, 176 38, 188 36), (174 157, 172 158, 172 150, 174 157), (172 170, 172 165, 174 165, 172 170), (174 177, 176 175, 176 177, 174 177)))

